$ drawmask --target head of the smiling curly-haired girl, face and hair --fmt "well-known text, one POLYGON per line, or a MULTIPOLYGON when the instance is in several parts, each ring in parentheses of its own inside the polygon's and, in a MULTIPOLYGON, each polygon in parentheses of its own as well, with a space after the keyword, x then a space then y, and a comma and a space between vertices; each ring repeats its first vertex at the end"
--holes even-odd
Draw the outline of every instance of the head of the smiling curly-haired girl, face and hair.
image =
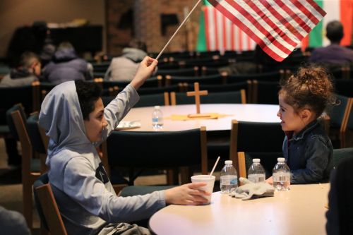
POLYGON ((324 68, 301 67, 290 78, 281 80, 280 87, 277 116, 283 131, 299 133, 330 104, 335 104, 333 83, 324 68))

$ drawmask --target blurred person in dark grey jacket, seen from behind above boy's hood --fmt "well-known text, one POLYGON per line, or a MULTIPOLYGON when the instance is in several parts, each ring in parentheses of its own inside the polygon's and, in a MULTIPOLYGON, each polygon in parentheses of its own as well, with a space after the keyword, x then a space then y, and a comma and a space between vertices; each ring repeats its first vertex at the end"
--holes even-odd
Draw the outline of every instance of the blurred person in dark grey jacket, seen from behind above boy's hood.
POLYGON ((61 42, 52 61, 43 68, 44 81, 53 84, 69 80, 92 80, 92 65, 78 58, 70 42, 61 42))

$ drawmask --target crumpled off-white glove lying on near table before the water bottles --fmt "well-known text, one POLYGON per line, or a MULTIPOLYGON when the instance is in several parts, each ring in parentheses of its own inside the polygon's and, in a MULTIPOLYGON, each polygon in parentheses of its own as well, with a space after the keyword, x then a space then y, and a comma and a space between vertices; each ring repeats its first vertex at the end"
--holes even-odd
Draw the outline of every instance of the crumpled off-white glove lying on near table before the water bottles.
POLYGON ((262 197, 273 197, 275 188, 268 183, 253 183, 249 179, 240 177, 239 181, 243 183, 235 189, 231 195, 235 198, 241 198, 241 200, 249 200, 251 198, 262 198, 262 197))

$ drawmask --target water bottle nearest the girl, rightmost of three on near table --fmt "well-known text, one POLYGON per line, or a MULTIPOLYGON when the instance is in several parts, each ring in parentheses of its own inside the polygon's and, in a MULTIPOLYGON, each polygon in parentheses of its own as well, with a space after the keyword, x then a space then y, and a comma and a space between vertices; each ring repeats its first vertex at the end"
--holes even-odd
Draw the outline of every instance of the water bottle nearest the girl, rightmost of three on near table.
POLYGON ((284 157, 277 158, 277 164, 273 168, 273 187, 276 191, 288 191, 290 186, 290 170, 284 157))

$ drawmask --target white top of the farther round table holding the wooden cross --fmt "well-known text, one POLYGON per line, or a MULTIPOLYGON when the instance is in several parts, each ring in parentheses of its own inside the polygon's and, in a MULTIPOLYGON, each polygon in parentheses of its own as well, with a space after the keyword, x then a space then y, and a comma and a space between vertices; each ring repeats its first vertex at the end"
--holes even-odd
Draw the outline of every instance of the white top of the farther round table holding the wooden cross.
MULTIPOLYGON (((274 104, 201 104, 201 113, 229 114, 220 119, 197 119, 188 121, 172 121, 164 119, 162 131, 183 131, 205 126, 207 131, 230 130, 233 119, 238 121, 278 122, 278 105, 274 104)), ((172 114, 187 115, 196 113, 195 104, 177 106, 161 106, 164 118, 172 114)), ((133 108, 123 121, 140 121, 140 128, 131 131, 154 131, 152 128, 153 107, 133 108)))

